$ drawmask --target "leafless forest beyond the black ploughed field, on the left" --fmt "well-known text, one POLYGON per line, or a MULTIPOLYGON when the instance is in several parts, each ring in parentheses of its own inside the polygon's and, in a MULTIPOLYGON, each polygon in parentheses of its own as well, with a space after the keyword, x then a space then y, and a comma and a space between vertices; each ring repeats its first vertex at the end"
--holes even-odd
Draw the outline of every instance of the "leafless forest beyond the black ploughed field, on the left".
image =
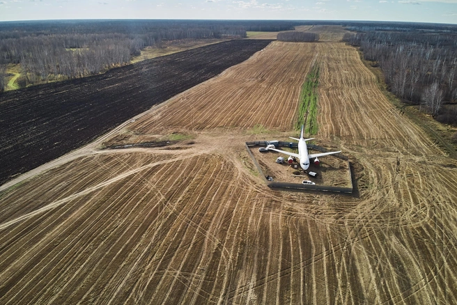
POLYGON ((20 88, 97 75, 130 63, 165 40, 245 38, 246 31, 285 31, 291 22, 196 20, 61 20, 0 22, 0 92, 6 66, 20 63, 20 88))

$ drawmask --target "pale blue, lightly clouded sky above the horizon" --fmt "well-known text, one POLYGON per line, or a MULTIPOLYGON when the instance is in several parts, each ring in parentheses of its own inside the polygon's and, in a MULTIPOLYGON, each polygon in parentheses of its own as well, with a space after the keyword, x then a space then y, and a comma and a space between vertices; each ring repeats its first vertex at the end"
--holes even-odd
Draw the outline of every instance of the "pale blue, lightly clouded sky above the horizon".
POLYGON ((0 21, 313 19, 457 24, 457 0, 0 0, 0 21))

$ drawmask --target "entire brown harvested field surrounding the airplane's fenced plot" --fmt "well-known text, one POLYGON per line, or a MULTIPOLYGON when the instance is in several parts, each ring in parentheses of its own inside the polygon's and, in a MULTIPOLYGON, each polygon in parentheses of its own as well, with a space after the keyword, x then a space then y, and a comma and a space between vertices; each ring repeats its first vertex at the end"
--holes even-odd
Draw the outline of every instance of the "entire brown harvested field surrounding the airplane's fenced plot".
POLYGON ((456 304, 456 189, 357 49, 275 41, 1 186, 0 303, 456 304), (297 136, 314 64, 314 137, 349 157, 353 196, 270 189, 245 150, 297 136))

